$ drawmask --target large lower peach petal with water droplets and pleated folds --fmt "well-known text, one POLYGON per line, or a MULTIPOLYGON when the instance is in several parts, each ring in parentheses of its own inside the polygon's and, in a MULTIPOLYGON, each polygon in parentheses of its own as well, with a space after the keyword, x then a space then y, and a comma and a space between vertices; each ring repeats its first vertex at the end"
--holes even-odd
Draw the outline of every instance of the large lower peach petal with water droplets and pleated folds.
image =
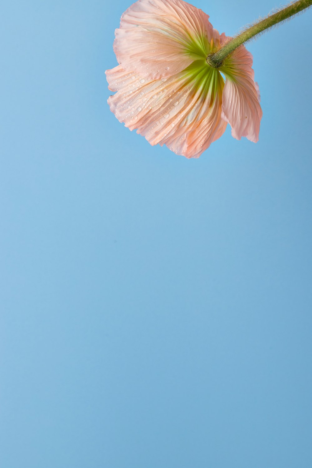
POLYGON ((225 131, 221 119, 224 81, 218 70, 197 61, 176 75, 148 81, 117 66, 106 72, 110 110, 151 145, 196 158, 225 131))

